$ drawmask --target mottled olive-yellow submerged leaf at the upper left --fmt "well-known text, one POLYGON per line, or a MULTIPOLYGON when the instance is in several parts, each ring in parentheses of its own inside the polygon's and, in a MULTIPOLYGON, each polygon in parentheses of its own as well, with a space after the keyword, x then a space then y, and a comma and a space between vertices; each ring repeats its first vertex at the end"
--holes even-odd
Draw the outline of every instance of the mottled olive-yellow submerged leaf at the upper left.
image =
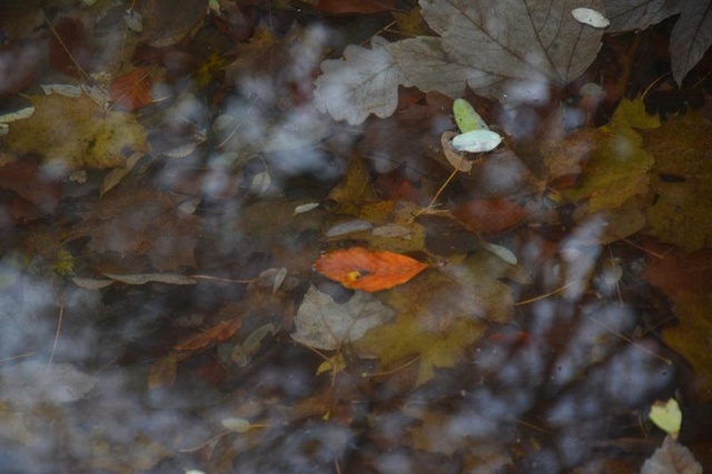
POLYGON ((60 170, 117 168, 134 151, 147 151, 146 131, 127 112, 103 111, 89 96, 30 96, 32 120, 12 126, 8 144, 36 152, 60 170))

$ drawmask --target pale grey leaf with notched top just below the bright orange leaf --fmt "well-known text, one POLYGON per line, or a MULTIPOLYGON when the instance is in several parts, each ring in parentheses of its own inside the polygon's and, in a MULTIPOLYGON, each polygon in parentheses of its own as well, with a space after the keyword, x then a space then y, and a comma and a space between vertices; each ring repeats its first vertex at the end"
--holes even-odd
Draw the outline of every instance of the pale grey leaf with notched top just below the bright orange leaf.
POLYGON ((297 332, 291 337, 309 347, 332 350, 360 339, 368 329, 390 320, 394 315, 393 309, 367 293, 356 292, 339 305, 310 286, 295 316, 297 332))

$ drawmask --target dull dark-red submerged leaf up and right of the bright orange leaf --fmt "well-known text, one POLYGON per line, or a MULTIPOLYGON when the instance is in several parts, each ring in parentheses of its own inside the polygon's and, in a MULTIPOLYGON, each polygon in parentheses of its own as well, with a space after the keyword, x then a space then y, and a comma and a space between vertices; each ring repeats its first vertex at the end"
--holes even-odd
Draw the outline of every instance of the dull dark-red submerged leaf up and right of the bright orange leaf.
POLYGON ((526 211, 506 199, 473 199, 458 207, 453 216, 475 233, 497 234, 526 217, 526 211))

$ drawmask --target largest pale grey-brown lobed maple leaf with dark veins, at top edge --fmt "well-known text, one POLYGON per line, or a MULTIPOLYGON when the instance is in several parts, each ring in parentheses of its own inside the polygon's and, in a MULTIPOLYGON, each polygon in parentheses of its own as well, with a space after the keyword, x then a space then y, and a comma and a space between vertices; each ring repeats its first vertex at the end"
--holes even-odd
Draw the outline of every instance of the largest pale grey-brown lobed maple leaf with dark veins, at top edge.
MULTIPOLYGON (((419 3, 441 37, 395 43, 374 38, 370 51, 348 47, 345 61, 322 63, 318 107, 350 124, 368 113, 386 117, 395 110, 398 85, 449 97, 462 96, 469 86, 481 96, 518 100, 525 90, 577 78, 601 48, 603 32, 576 22, 565 0, 419 3)), ((603 10, 600 0, 587 6, 603 10)))

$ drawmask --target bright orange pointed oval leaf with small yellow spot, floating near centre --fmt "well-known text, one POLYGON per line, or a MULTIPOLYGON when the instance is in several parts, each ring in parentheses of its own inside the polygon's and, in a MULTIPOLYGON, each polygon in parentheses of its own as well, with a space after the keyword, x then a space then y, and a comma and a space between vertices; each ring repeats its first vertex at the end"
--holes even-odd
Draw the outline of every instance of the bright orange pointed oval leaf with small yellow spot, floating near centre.
POLYGON ((353 247, 324 254, 314 268, 347 288, 378 292, 406 283, 427 267, 405 255, 353 247))

